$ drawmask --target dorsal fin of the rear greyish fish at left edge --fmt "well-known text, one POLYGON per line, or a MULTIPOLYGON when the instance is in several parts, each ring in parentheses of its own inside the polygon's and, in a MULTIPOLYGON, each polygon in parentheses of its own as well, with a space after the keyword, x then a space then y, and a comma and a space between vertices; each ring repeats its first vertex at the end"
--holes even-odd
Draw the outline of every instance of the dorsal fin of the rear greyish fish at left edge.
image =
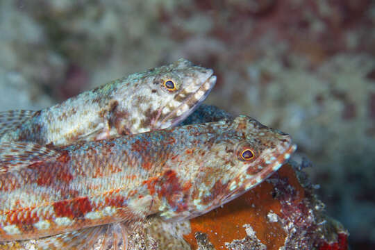
POLYGON ((8 131, 17 128, 17 126, 20 126, 38 112, 35 110, 9 110, 0 112, 0 137, 8 131))

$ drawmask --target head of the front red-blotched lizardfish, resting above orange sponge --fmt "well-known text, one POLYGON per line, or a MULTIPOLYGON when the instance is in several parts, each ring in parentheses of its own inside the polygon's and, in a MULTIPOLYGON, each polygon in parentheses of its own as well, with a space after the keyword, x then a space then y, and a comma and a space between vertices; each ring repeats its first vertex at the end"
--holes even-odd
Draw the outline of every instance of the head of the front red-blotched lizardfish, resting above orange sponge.
POLYGON ((228 126, 212 126, 210 134, 215 136, 201 142, 204 146, 189 162, 194 169, 185 176, 194 181, 185 219, 239 197, 276 172, 297 149, 290 135, 251 117, 225 123, 228 126))

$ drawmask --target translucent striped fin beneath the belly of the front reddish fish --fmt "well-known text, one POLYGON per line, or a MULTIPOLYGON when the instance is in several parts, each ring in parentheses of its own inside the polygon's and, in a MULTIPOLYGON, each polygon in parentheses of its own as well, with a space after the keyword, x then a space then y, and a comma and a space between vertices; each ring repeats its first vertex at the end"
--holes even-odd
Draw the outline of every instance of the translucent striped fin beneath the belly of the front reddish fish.
POLYGON ((61 233, 36 240, 36 249, 92 249, 97 238, 104 233, 106 225, 83 228, 69 233, 61 233))

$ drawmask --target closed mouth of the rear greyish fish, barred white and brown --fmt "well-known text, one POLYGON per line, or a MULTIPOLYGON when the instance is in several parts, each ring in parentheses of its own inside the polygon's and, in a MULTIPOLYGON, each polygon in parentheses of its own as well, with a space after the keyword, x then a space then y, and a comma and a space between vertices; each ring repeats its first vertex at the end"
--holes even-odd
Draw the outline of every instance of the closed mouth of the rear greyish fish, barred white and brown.
POLYGON ((172 119, 171 126, 176 126, 176 124, 180 123, 191 113, 193 113, 194 110, 198 108, 199 104, 206 99, 208 94, 210 94, 211 90, 213 90, 213 86, 215 86, 216 76, 213 76, 212 74, 199 86, 196 91, 189 94, 183 103, 181 103, 166 117, 161 119, 159 124, 165 124, 165 122, 167 122, 169 119, 172 119))

